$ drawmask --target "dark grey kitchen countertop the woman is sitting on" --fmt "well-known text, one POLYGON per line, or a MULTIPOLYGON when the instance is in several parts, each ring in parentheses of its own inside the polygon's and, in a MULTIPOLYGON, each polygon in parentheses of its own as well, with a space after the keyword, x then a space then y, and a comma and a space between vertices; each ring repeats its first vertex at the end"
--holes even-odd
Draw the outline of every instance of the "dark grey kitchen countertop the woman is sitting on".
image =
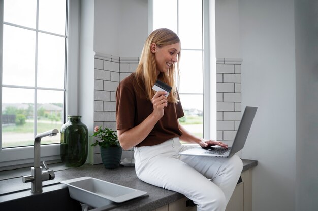
MULTIPOLYGON (((256 160, 243 160, 243 171, 256 166, 256 160)), ((114 170, 107 170, 102 164, 90 165, 84 164, 77 168, 68 168, 62 163, 51 164, 50 169, 55 172, 55 179, 44 181, 43 186, 56 184, 63 180, 77 177, 89 176, 101 180, 105 180, 118 185, 135 188, 146 191, 148 196, 132 200, 129 203, 123 203, 121 206, 112 209, 113 211, 124 210, 154 210, 171 202, 177 201, 184 197, 182 194, 159 188, 147 184, 137 178, 135 167, 121 166, 114 170)), ((18 170, 9 170, 0 172, 0 195, 18 190, 30 189, 30 183, 22 183, 21 177, 30 174, 29 168, 21 168, 18 170)), ((102 209, 94 209, 102 210, 102 209)))

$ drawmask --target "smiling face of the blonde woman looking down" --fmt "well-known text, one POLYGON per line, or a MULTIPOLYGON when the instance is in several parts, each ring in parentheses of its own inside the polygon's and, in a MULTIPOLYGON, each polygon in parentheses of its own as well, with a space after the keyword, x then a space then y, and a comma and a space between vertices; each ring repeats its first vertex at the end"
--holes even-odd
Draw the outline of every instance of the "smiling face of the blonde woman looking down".
POLYGON ((180 52, 180 43, 175 43, 166 46, 157 46, 155 43, 151 44, 151 52, 154 54, 156 62, 157 76, 162 72, 168 72, 171 65, 178 61, 178 54, 180 52))

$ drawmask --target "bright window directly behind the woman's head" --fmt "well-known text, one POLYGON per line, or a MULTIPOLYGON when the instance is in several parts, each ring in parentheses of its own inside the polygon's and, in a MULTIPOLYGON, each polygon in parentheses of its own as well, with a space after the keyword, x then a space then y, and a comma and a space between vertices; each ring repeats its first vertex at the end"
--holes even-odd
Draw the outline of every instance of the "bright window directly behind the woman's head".
POLYGON ((153 0, 152 11, 152 29, 169 28, 181 40, 178 91, 185 116, 179 119, 180 124, 189 132, 203 137, 205 96, 202 0, 153 0))

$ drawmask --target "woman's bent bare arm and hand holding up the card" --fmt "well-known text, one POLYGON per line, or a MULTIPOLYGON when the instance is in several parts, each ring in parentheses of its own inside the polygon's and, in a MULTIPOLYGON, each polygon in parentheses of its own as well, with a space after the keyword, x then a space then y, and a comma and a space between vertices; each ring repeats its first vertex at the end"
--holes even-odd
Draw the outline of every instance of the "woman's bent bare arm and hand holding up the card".
POLYGON ((117 135, 121 148, 127 150, 142 142, 153 129, 161 117, 164 115, 164 107, 167 107, 167 92, 159 91, 151 99, 153 105, 152 113, 134 128, 118 129, 117 135))

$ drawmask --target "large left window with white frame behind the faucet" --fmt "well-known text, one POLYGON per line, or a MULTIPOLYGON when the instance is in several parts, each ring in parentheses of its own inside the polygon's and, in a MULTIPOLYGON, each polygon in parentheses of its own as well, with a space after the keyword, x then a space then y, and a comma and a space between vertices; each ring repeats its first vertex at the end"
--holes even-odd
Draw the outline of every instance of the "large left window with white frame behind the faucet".
MULTIPOLYGON (((77 82, 71 81, 73 88, 68 90, 66 86, 69 78, 77 76, 77 54, 68 52, 78 50, 78 34, 68 34, 78 31, 78 8, 78 0, 0 0, 0 168, 32 162, 33 147, 29 146, 34 137, 60 130, 66 106, 68 111, 74 110, 66 100, 77 82), (73 21, 71 30, 69 19, 73 21)), ((41 155, 46 160, 57 159, 59 142, 59 134, 43 138, 41 144, 50 145, 41 147, 41 155)))

